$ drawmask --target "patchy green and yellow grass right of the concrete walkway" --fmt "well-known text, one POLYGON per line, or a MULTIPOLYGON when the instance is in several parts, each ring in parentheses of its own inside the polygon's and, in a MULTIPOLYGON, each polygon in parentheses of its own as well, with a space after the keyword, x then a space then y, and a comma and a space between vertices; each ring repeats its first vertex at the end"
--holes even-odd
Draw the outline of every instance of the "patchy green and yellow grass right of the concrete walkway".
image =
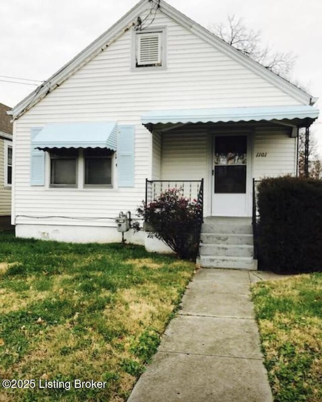
POLYGON ((275 402, 322 402, 322 273, 252 292, 275 402))

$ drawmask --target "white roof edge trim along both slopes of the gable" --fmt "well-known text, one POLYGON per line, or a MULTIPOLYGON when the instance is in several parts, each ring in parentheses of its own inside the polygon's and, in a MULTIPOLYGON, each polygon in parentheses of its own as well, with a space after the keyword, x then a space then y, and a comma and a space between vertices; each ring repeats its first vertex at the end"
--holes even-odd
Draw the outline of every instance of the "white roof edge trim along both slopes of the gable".
POLYGON ((146 6, 158 4, 158 11, 181 24, 187 30, 200 37, 210 45, 230 56, 248 69, 262 76, 266 81, 279 88, 286 94, 292 96, 303 104, 314 104, 317 98, 313 98, 305 91, 291 84, 285 78, 277 75, 262 64, 253 60, 249 56, 227 44, 215 34, 194 22, 174 7, 170 6, 164 0, 140 0, 128 13, 118 20, 111 28, 99 36, 94 42, 87 46, 83 51, 78 53, 73 59, 61 67, 56 73, 41 84, 35 91, 19 102, 11 111, 14 119, 18 119, 27 110, 36 105, 42 98, 59 87, 70 75, 79 68, 87 64, 100 52, 106 50, 113 42, 115 42, 124 32, 127 32, 136 23, 140 13, 146 10, 146 6))

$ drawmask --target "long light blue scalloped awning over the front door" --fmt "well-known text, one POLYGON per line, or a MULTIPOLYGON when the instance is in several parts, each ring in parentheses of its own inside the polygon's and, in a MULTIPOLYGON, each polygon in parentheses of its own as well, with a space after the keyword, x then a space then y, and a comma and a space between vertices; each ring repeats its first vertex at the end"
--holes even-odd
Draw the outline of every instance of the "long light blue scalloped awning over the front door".
POLYGON ((318 109, 309 105, 254 106, 212 109, 152 110, 142 114, 141 122, 153 124, 227 123, 250 121, 294 121, 294 125, 311 124, 318 117, 318 109))

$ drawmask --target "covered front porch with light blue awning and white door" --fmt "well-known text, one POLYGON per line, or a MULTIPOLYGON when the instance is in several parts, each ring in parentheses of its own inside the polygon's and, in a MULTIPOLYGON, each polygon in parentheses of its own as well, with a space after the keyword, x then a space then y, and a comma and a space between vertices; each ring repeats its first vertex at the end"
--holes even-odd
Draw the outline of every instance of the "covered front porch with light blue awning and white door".
POLYGON ((146 113, 151 180, 204 178, 203 216, 251 217, 253 179, 296 176, 298 129, 316 116, 304 105, 146 113))

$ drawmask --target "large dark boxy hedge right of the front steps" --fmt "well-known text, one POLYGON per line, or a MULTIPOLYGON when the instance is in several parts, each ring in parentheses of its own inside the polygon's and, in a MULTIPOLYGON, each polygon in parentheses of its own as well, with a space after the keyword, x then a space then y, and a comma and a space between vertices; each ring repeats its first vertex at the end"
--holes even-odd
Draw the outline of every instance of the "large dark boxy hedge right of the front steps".
POLYGON ((322 180, 264 179, 258 191, 261 269, 322 271, 322 180))

